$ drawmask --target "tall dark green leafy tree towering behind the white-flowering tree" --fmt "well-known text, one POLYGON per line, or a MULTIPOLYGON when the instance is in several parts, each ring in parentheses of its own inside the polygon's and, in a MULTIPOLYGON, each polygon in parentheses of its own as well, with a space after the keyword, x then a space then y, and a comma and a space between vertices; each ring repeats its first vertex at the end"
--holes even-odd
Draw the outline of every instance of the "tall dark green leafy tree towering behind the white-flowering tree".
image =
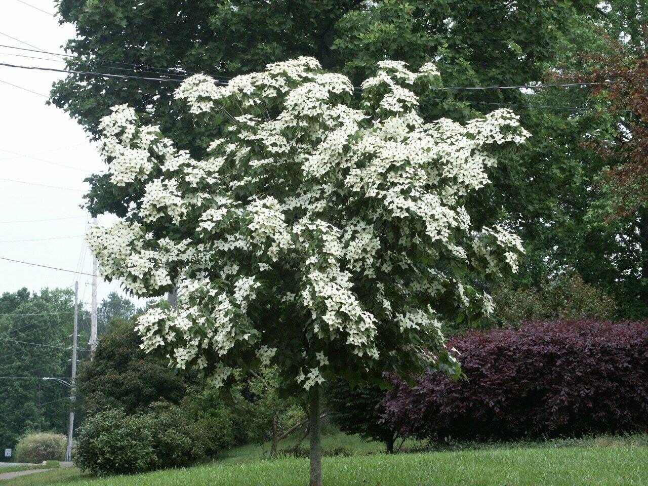
MULTIPOLYGON (((446 86, 526 84, 557 64, 573 65, 577 52, 599 49, 597 26, 609 27, 611 17, 627 17, 623 12, 632 8, 625 3, 632 2, 614 2, 614 12, 621 13, 609 15, 590 0, 148 0, 137 8, 117 0, 61 0, 60 18, 73 23, 77 34, 67 44, 75 54, 68 61, 71 69, 168 82, 71 74, 54 86, 52 102, 95 135, 110 106, 128 103, 200 157, 214 133, 202 133, 191 121, 171 115, 172 90, 189 72, 227 77, 303 54, 360 80, 377 60, 405 60, 416 67, 434 58, 446 86), (119 62, 139 67, 135 73, 124 71, 132 65, 119 62)), ((618 268, 610 256, 618 245, 583 216, 588 187, 604 163, 582 141, 608 130, 611 121, 590 113, 522 106, 582 106, 577 89, 531 95, 515 89, 448 90, 428 97, 423 106, 430 118, 450 113, 466 119, 476 111, 491 111, 496 106, 489 103, 498 102, 515 104, 512 108, 535 136, 522 156, 511 156, 496 168, 491 191, 481 192, 481 204, 469 205, 480 208, 472 216, 483 224, 507 216, 524 238, 528 257, 521 283, 537 285, 567 264, 588 283, 612 286, 621 301, 618 295, 625 288, 615 286, 614 279, 623 264, 618 268)), ((125 204, 137 197, 106 192, 99 177, 91 207, 122 214, 125 204)))

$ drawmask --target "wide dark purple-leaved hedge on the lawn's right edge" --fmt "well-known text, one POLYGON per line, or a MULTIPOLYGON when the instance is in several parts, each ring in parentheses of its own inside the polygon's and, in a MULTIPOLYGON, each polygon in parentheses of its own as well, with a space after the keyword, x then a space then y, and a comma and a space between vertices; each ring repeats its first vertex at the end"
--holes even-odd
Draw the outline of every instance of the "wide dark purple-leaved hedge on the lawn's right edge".
POLYGON ((522 439, 648 430, 648 323, 536 322, 449 344, 468 380, 428 373, 378 406, 404 437, 522 439))

